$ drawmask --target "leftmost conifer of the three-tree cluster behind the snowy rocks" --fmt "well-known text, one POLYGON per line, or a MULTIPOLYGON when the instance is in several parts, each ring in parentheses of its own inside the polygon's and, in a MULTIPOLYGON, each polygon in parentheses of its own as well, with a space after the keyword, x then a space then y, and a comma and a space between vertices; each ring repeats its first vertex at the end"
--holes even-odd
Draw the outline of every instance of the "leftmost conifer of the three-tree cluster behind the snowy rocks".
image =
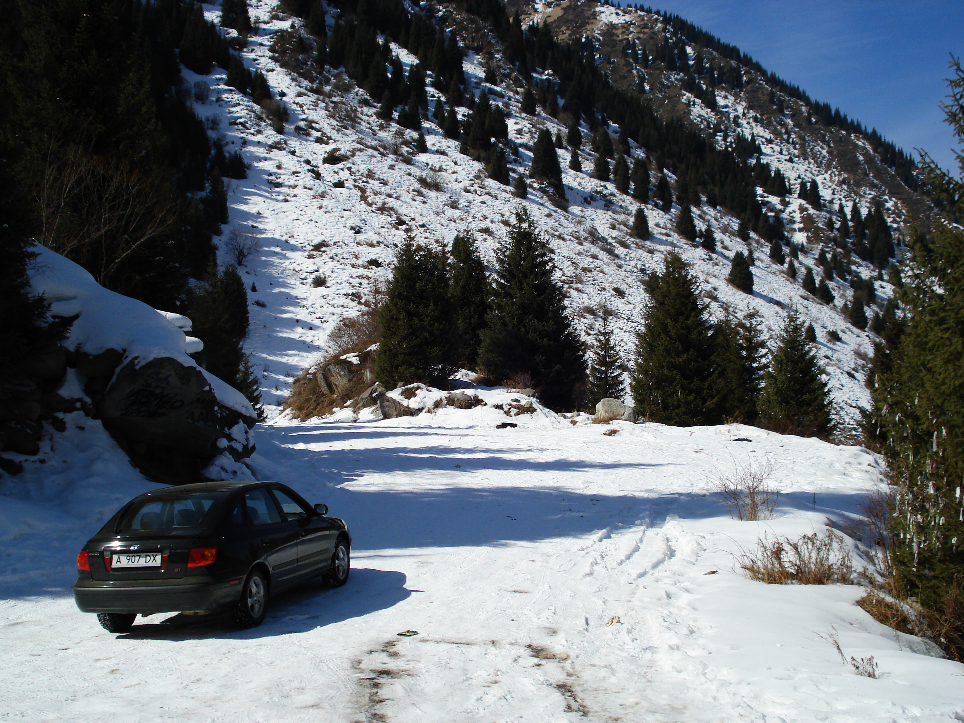
POLYGON ((375 377, 393 389, 423 382, 440 386, 455 370, 447 259, 441 249, 409 238, 395 255, 385 303, 375 377))

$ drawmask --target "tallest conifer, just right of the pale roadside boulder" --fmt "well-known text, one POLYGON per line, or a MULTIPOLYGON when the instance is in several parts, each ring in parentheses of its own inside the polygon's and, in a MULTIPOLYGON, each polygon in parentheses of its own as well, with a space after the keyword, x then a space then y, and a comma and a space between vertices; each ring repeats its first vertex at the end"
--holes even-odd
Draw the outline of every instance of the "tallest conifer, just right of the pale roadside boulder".
POLYGON ((696 278, 679 254, 667 254, 663 272, 646 287, 651 301, 636 335, 630 383, 636 415, 678 426, 711 424, 714 343, 696 278))

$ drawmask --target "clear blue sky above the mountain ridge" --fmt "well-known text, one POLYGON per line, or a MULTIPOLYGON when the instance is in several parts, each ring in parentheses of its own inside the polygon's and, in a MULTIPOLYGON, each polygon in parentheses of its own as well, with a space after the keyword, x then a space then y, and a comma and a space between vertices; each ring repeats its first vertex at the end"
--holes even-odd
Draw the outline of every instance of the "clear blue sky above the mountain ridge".
MULTIPOLYGON (((962 0, 666 0, 811 97, 876 127, 897 146, 924 148, 957 172, 940 102, 950 53, 964 56, 962 0)), ((916 156, 916 154, 915 154, 916 156)))

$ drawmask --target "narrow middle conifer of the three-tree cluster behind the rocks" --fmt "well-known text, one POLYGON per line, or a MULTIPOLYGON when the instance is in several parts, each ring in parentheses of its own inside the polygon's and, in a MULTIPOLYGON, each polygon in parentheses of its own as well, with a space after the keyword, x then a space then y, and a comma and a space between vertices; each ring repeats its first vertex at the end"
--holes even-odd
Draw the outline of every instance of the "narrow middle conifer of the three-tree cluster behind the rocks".
POLYGON ((471 236, 456 235, 452 240, 451 254, 449 299, 455 316, 453 359, 474 368, 492 292, 485 275, 485 263, 471 236))

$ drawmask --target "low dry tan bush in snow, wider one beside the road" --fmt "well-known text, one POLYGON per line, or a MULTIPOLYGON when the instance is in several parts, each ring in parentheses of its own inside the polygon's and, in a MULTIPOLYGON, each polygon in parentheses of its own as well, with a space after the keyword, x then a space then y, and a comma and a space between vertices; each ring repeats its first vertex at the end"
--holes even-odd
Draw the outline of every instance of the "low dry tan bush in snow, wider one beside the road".
POLYGON ((844 538, 829 529, 797 540, 765 536, 757 549, 741 549, 736 562, 750 579, 774 585, 849 583, 853 577, 844 538))

